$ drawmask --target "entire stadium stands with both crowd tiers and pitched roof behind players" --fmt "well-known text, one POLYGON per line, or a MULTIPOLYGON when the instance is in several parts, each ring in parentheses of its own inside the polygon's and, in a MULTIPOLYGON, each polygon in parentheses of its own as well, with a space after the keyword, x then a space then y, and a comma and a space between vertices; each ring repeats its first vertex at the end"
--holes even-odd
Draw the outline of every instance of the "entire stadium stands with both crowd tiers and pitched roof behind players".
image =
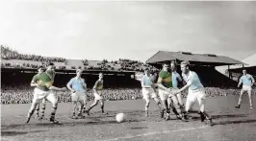
MULTIPOLYGON (((65 86, 66 82, 75 76, 76 68, 85 68, 82 77, 85 78, 88 83, 88 93, 90 95, 88 101, 93 99, 91 87, 97 80, 97 74, 99 72, 104 73, 105 89, 103 93, 106 100, 137 100, 141 99, 142 96, 141 83, 137 81, 136 78, 141 76, 144 68, 147 67, 157 73, 161 69, 161 63, 164 61, 175 60, 180 62, 183 59, 192 62, 192 70, 199 74, 201 81, 207 86, 207 96, 215 97, 240 93, 240 89, 230 87, 230 85, 232 85, 230 83, 233 81, 218 73, 218 71, 215 70, 215 66, 243 62, 215 55, 193 56, 192 53, 171 53, 168 55, 167 53, 168 52, 159 52, 157 55, 148 59, 146 61, 147 64, 145 64, 130 59, 112 61, 103 59, 100 61, 87 59, 54 59, 36 55, 20 55, 10 48, 1 46, 1 103, 4 105, 31 103, 33 97, 33 87, 30 86, 31 79, 37 73, 38 66, 48 61, 53 61, 57 66, 55 81, 55 85, 57 86, 65 86), (170 56, 172 54, 175 54, 175 56, 170 56), (193 57, 189 58, 189 56, 193 57), (164 59, 164 57, 166 57, 166 59, 164 59), (159 59, 159 61, 157 59, 159 59)), ((187 91, 182 93, 183 97, 186 96, 186 93, 187 91)), ((59 102, 66 103, 71 101, 69 91, 57 92, 57 94, 59 102)))

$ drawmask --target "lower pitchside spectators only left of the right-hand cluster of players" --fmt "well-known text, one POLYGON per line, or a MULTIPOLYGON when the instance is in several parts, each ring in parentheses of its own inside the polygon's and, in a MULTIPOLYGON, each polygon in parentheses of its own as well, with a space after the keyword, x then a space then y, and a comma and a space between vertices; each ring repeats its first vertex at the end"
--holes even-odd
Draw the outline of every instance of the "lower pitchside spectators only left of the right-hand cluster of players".
MULTIPOLYGON (((2 85, 1 88, 1 103, 9 104, 29 104, 33 100, 33 87, 28 85, 7 86, 2 85)), ((71 93, 69 91, 56 91, 60 103, 71 102, 71 93)), ((88 89, 88 101, 94 99, 91 89, 88 89)), ((140 88, 107 88, 103 90, 103 97, 108 101, 117 100, 137 100, 141 99, 142 95, 140 88)))

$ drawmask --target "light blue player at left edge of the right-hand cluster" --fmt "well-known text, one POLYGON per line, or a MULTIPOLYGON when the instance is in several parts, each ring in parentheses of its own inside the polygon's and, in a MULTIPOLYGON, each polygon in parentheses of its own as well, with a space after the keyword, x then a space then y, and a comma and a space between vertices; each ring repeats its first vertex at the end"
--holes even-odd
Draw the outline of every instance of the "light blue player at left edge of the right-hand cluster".
MULTIPOLYGON (((157 106, 162 110, 161 103, 157 98, 157 94, 155 92, 155 85, 150 78, 149 70, 146 68, 144 70, 144 75, 141 78, 141 87, 142 87, 142 96, 145 100, 145 116, 148 116, 148 107, 150 104, 150 99, 154 99, 157 106)), ((163 111, 162 111, 163 112, 163 111)))

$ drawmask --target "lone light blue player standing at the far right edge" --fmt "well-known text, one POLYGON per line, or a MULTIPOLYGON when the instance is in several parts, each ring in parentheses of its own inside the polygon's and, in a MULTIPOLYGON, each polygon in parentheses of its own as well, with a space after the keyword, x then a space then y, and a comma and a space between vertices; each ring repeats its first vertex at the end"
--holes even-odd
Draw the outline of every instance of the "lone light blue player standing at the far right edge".
POLYGON ((236 108, 240 108, 242 98, 243 98, 243 93, 245 91, 247 91, 247 93, 248 93, 250 108, 253 108, 252 100, 251 100, 251 87, 253 86, 254 82, 255 81, 254 81, 253 77, 251 75, 247 74, 246 70, 243 70, 243 76, 240 78, 240 81, 239 81, 239 84, 238 84, 238 87, 240 87, 241 83, 243 83, 243 88, 241 90, 238 106, 236 106, 236 108))

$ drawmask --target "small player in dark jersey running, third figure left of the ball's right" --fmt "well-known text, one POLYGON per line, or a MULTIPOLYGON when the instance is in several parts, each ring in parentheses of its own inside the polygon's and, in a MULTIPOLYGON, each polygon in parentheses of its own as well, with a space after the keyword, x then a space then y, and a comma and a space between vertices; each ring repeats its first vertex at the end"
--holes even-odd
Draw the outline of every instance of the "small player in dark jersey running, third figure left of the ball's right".
POLYGON ((93 94, 94 94, 94 103, 86 110, 86 113, 90 115, 90 109, 94 106, 98 105, 100 102, 101 112, 104 113, 104 100, 102 97, 102 90, 103 90, 103 74, 99 73, 99 79, 95 82, 93 86, 93 94))

